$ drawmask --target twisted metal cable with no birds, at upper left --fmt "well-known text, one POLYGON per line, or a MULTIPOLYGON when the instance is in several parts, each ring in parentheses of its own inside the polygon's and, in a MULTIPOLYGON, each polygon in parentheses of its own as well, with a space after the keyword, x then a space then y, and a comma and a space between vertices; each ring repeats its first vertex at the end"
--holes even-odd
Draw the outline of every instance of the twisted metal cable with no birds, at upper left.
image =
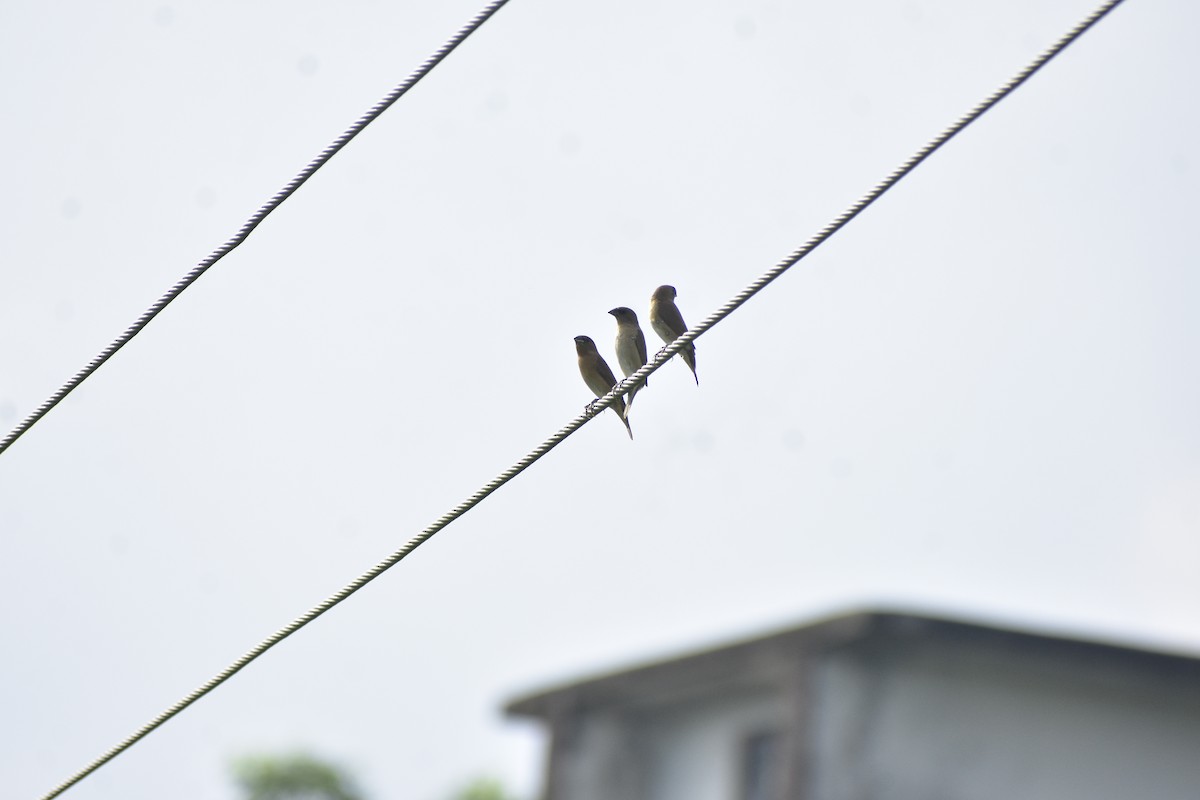
POLYGON ((348 127, 342 136, 337 137, 328 148, 320 151, 320 154, 308 162, 308 166, 300 170, 295 178, 293 178, 288 184, 281 188, 275 196, 263 204, 254 215, 246 221, 238 233, 229 237, 226 243, 212 251, 208 258, 196 265, 191 272, 180 278, 175 285, 167 290, 164 295, 158 297, 158 300, 150 306, 140 317, 133 320, 133 324, 125 329, 125 332, 113 339, 113 343, 104 348, 100 355, 89 361, 83 369, 77 372, 71 377, 62 386, 59 387, 49 399, 38 405, 32 414, 26 416, 20 421, 17 427, 8 432, 4 439, 0 439, 0 453, 4 453, 17 439, 22 437, 26 431, 29 431, 38 420, 41 420, 46 414, 59 404, 67 395, 70 395, 74 389, 86 380, 91 373, 96 372, 102 363, 108 361, 113 355, 116 354, 122 347, 128 344, 130 339, 142 332, 142 329, 150 324, 150 320, 158 315, 163 308, 167 307, 170 301, 182 294, 184 289, 196 283, 196 281, 204 275, 210 266, 220 261, 222 258, 228 255, 233 249, 241 245, 246 239, 253 233, 254 228, 259 225, 275 209, 277 209, 284 200, 292 197, 296 190, 299 190, 313 174, 325 166, 330 158, 336 156, 342 148, 350 143, 350 139, 356 137, 362 132, 366 126, 371 125, 380 114, 386 112, 392 103, 400 100, 409 89, 416 85, 416 83, 424 78, 433 67, 438 66, 443 59, 445 59, 450 53, 458 47, 463 40, 470 36, 480 25, 487 22, 492 14, 500 10, 509 0, 493 0, 482 11, 470 18, 470 20, 458 29, 458 31, 446 40, 445 44, 437 49, 430 58, 427 58, 421 66, 416 67, 400 85, 392 89, 388 95, 380 100, 378 103, 371 107, 366 114, 360 116, 354 125, 348 127))

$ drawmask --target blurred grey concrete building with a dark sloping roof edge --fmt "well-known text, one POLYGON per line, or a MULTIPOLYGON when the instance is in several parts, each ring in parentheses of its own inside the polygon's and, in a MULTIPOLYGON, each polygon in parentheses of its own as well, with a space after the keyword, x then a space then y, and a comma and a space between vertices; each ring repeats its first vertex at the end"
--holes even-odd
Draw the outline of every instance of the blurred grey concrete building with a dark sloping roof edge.
POLYGON ((856 613, 514 700, 544 800, 1198 800, 1200 660, 856 613))

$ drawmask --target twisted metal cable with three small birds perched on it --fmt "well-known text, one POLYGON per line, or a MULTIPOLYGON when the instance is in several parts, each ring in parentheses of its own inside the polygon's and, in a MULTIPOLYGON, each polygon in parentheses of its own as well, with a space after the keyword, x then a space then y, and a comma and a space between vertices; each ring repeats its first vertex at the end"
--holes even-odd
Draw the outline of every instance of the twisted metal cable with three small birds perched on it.
MULTIPOLYGON (((923 146, 913 156, 911 156, 907 161, 905 161, 902 164, 900 164, 900 167, 898 167, 895 170, 893 170, 890 174, 888 174, 887 178, 884 178, 882 181, 880 181, 878 184, 876 184, 875 187, 872 187, 866 194, 864 194, 859 200, 857 200, 853 205, 851 205, 848 209, 846 209, 846 211, 844 211, 840 216, 838 216, 833 222, 830 222, 828 225, 826 225, 820 231, 817 231, 816 235, 814 235, 811 239, 809 239, 806 242, 804 242, 804 245, 802 245, 798 249, 796 249, 794 252, 792 252, 787 258, 785 258, 779 264, 776 264, 774 267, 772 267, 770 270, 768 270, 762 277, 760 277, 754 283, 751 283, 745 289, 743 289, 740 293, 738 293, 732 300, 730 300, 727 303, 725 303, 724 306, 721 306, 718 311, 715 311, 712 314, 709 314, 698 325, 696 325, 695 327, 692 327, 691 330, 689 330, 686 333, 684 333, 683 336, 680 336, 678 339, 676 339, 674 342, 672 342, 670 345, 667 345, 662 350, 660 350, 654 356, 654 359, 650 360, 649 363, 647 363, 641 369, 638 369, 637 372, 635 372, 632 375, 630 375, 629 378, 626 378, 625 380, 623 380, 620 384, 618 384, 613 389, 613 391, 611 391, 610 393, 605 395, 604 397, 596 399, 595 403, 593 403, 593 405, 589 408, 588 411, 586 411, 584 414, 581 414, 580 416, 577 416, 574 420, 571 420, 566 426, 564 426, 562 429, 559 429, 552 437, 550 437, 548 439, 546 439, 545 441, 542 441, 540 445, 538 445, 534 450, 532 450, 528 455, 526 455, 521 461, 518 461, 517 463, 515 463, 512 467, 509 467, 506 470, 504 470, 503 473, 500 473, 497 477, 492 479, 481 489, 479 489, 478 492, 475 492, 474 494, 472 494, 469 498, 467 498, 466 500, 463 500, 462 503, 460 503, 457 506, 455 506, 452 510, 450 510, 449 512, 446 512, 445 515, 443 515, 442 517, 439 517, 437 521, 434 521, 433 524, 431 524, 428 528, 426 528, 420 534, 418 534, 416 536, 414 536, 410 540, 408 540, 408 542, 406 542, 404 546, 401 547, 398 551, 396 551, 395 553, 392 553, 391 555, 389 555, 388 558, 385 558, 383 561, 380 561, 376 566, 371 567, 370 570, 367 570, 366 572, 364 572, 362 575, 360 575, 358 578, 355 578, 354 581, 352 581, 350 583, 348 583, 346 587, 343 587, 337 593, 335 593, 335 594, 330 595, 329 597, 326 597, 324 601, 322 601, 316 607, 313 607, 310 610, 305 612, 304 614, 301 614, 296 619, 292 620, 290 622, 288 622, 287 625, 284 625, 283 627, 281 627, 278 631, 276 631, 275 633, 272 633, 271 636, 266 637, 265 639, 263 639, 262 642, 259 642, 257 645, 254 645, 253 648, 251 648, 250 650, 247 650, 241 657, 239 657, 232 664, 229 664, 228 667, 226 667, 217 675, 215 675, 211 679, 209 679, 200 687, 198 687, 197 690, 192 691, 190 694, 187 694, 186 697, 184 697, 182 699, 180 699, 179 702, 176 702, 174 705, 172 705, 166 711, 163 711, 162 714, 160 714, 158 716, 156 716, 154 720, 151 720, 146 724, 144 724, 140 728, 138 728, 136 732, 133 732, 125 740, 122 740, 121 742, 119 742, 118 745, 115 745, 114 747, 112 747, 103 756, 101 756, 100 758, 97 758, 96 760, 94 760, 91 764, 89 764, 88 766, 85 766, 83 770, 80 770, 79 772, 77 772, 76 775, 73 775, 70 780, 65 781, 64 783, 61 783, 56 788, 54 788, 52 792, 49 792, 48 794, 43 795, 42 800, 50 800, 52 798, 59 796, 60 794, 62 794, 62 792, 65 792, 66 789, 68 789, 73 784, 78 783, 80 780, 83 780, 84 777, 86 777, 88 775, 90 775, 91 772, 94 772, 95 770, 97 770, 101 766, 103 766, 106 763, 108 763, 109 760, 112 760, 113 758, 115 758, 116 756, 119 756, 120 753, 122 753, 124 751, 126 751, 127 748, 130 748, 132 745, 134 745, 140 739, 143 739, 144 736, 146 736, 150 732, 152 732, 158 726, 161 726, 162 723, 164 723, 167 720, 172 718, 173 716, 175 716, 176 714, 179 714, 180 711, 182 711, 184 709, 186 709, 188 705, 191 705, 192 703, 194 703, 196 700, 200 699, 202 697, 204 697, 205 694, 208 694, 209 692, 211 692, 214 688, 216 688, 217 686, 220 686, 221 684, 223 684, 226 680, 228 680, 234 674, 236 674, 238 672, 240 672, 244 667, 246 667, 247 664, 250 664, 250 662, 252 662, 254 658, 257 658, 258 656, 263 655, 264 652, 266 652, 268 650, 270 650, 272 646, 275 646, 276 644, 278 644, 280 642, 282 642, 287 637, 292 636, 293 633, 295 633, 296 631, 299 631, 301 627, 304 627, 308 622, 313 621, 314 619, 317 619, 318 616, 320 616, 322 614, 324 614, 325 612, 328 612, 330 608, 332 608, 334 606, 336 606, 337 603, 342 602, 343 600, 346 600, 347 597, 349 597, 350 595, 353 595, 355 591, 358 591, 359 589, 361 589, 362 587, 365 587, 366 584, 368 584, 371 581, 374 581, 377 577, 379 577, 385 571, 388 571, 389 569, 391 569, 392 566, 395 566, 398 561, 401 561, 404 557, 407 557, 414 549, 416 549, 422 543, 425 543, 436 533, 438 533, 439 530, 442 530, 443 528, 445 528, 446 525, 449 525, 451 522, 454 522, 455 519, 457 519, 462 515, 467 513, 467 511, 469 511, 470 509, 473 509, 474 506, 476 506, 480 501, 482 501, 492 492, 497 491, 498 488, 500 488, 502 486, 504 486, 505 483, 508 483, 510 480, 512 480, 514 477, 516 477, 517 475, 520 475, 522 471, 526 470, 526 468, 528 468, 529 465, 532 465, 539 458, 541 458, 547 452, 550 452, 556 446, 558 446, 569 435, 571 435, 577 429, 580 429, 581 427, 583 427, 598 413, 600 413, 601 410, 608 408, 614 402, 614 399, 617 397, 619 397, 619 396, 624 395, 625 392, 628 392, 629 389, 631 389, 634 385, 641 383, 652 372, 654 372, 655 369, 658 369, 659 367, 661 367, 664 363, 666 363, 671 359, 671 356, 673 356, 676 353, 678 353, 680 349, 683 349, 683 347, 684 347, 685 343, 694 341, 696 337, 701 336, 704 331, 707 331, 708 329, 710 329, 714 325, 716 325, 716 323, 719 323, 722 319, 725 319, 726 317, 728 317, 738 307, 740 307, 746 300, 749 300, 750 297, 752 297, 754 295, 756 295, 758 291, 761 291, 768 283, 770 283, 772 281, 774 281, 775 278, 778 278, 780 275, 782 275, 784 272, 786 272, 788 269, 791 269, 792 266, 794 266, 802 258, 804 258, 805 255, 808 255, 809 253, 811 253, 816 247, 818 247, 822 242, 824 242, 827 239, 829 239, 833 234, 838 233, 842 227, 846 225, 846 223, 848 223, 851 219, 853 219, 856 216, 858 216, 859 212, 862 212, 864 209, 866 209, 869 205, 871 205, 875 200, 877 200, 880 197, 882 197, 884 192, 887 192, 889 188, 892 188, 893 186, 895 186, 901 179, 904 179, 906 175, 908 175, 908 173, 911 173, 913 169, 916 169, 918 164, 920 164, 923 161, 925 161, 925 158, 928 158, 930 155, 932 155, 938 148, 941 148, 943 144, 946 144, 947 142, 949 142, 958 133, 960 133, 964 128, 966 128, 968 125, 971 125, 977 119, 979 119, 979 116, 982 116, 984 113, 986 113, 990 108, 992 108, 996 103, 998 103, 1001 100, 1003 100, 1009 94, 1012 94, 1013 90, 1015 90, 1018 86, 1020 86, 1021 84, 1024 84, 1034 72, 1037 72, 1043 66, 1045 66, 1051 59, 1054 59, 1062 50, 1064 50, 1072 42, 1074 42, 1076 38, 1079 38, 1085 31, 1087 31, 1092 25, 1094 25, 1097 22, 1099 22, 1105 14, 1108 14, 1110 11, 1112 11, 1116 6, 1121 5, 1121 2, 1123 2, 1123 0, 1108 0, 1102 6, 1099 6, 1096 11, 1093 11, 1091 14, 1088 14, 1082 22, 1080 22, 1078 25, 1075 25, 1069 31, 1067 31, 1067 34, 1064 34, 1061 38, 1058 38, 1058 41, 1056 41, 1049 48, 1046 48, 1045 50, 1043 50, 1032 62, 1030 62, 1028 66, 1026 66, 1024 70, 1021 70, 1019 73, 1016 73, 1016 76, 1014 76, 1008 83, 1006 83, 1003 86, 1001 86, 1000 89, 997 89, 996 91, 994 91, 985 100, 983 100, 982 102, 979 102, 971 110, 968 110, 966 114, 964 114, 958 120, 955 120, 949 127, 947 127, 941 133, 938 133, 936 137, 934 137, 928 144, 925 144, 925 146, 923 146)), ((499 5, 499 4, 496 4, 496 5, 499 5)))

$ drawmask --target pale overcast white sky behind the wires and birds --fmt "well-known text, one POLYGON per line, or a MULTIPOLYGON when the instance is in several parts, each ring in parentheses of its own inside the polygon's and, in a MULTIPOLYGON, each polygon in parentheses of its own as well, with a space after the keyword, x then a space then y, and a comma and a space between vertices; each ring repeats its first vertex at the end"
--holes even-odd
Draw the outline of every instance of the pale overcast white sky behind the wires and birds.
MULTIPOLYGON (((0 10, 0 426, 479 0, 0 10)), ((0 456, 0 774, 49 789, 575 416, 1094 0, 512 2, 0 456)), ((1200 650, 1200 115, 1129 0, 586 426, 67 795, 532 795, 546 682, 872 603, 1200 650)))

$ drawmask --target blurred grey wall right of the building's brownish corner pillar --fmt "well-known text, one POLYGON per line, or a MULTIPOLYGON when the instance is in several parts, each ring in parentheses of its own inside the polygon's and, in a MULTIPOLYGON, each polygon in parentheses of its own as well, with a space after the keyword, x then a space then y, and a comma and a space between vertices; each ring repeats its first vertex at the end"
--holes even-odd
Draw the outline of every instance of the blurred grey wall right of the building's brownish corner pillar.
POLYGON ((1196 800, 1200 686, 1003 648, 828 657, 815 800, 1196 800))

